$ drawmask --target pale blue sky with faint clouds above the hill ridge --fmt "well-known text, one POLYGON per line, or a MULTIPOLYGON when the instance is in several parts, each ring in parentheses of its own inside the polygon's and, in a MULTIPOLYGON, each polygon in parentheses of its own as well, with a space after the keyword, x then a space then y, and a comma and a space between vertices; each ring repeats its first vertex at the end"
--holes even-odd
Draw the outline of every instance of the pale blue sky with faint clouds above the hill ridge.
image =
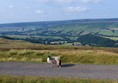
POLYGON ((118 0, 0 0, 0 24, 118 18, 118 0))

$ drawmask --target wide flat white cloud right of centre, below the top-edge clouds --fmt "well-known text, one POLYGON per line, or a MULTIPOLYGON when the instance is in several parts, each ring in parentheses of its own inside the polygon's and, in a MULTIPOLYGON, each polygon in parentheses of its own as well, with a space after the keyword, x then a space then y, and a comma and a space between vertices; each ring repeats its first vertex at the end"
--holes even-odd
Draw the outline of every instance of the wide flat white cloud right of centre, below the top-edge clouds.
POLYGON ((77 6, 77 7, 67 7, 65 9, 65 12, 68 12, 68 13, 82 13, 82 12, 86 12, 88 10, 89 10, 88 8, 77 6))

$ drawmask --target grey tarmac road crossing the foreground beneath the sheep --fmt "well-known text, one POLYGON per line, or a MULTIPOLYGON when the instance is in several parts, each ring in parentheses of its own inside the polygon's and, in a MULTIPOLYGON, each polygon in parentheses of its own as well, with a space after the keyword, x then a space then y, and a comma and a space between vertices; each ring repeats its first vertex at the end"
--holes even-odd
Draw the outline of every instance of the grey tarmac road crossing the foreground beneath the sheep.
POLYGON ((118 65, 63 64, 52 68, 47 63, 0 62, 0 75, 118 80, 118 65))

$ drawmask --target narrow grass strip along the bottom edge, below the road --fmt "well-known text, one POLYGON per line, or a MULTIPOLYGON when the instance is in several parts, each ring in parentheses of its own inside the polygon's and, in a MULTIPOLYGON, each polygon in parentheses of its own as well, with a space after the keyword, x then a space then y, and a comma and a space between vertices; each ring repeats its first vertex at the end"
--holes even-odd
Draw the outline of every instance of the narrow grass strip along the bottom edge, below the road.
POLYGON ((118 83, 118 81, 54 77, 0 76, 0 83, 118 83))

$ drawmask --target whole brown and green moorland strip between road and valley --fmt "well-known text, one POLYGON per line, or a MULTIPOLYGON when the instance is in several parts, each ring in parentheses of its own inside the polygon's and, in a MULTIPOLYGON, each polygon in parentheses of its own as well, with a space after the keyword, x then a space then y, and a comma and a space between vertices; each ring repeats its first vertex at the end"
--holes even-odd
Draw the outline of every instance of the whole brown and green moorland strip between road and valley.
POLYGON ((48 55, 63 63, 118 64, 118 48, 41 45, 0 38, 0 61, 46 62, 48 55))

